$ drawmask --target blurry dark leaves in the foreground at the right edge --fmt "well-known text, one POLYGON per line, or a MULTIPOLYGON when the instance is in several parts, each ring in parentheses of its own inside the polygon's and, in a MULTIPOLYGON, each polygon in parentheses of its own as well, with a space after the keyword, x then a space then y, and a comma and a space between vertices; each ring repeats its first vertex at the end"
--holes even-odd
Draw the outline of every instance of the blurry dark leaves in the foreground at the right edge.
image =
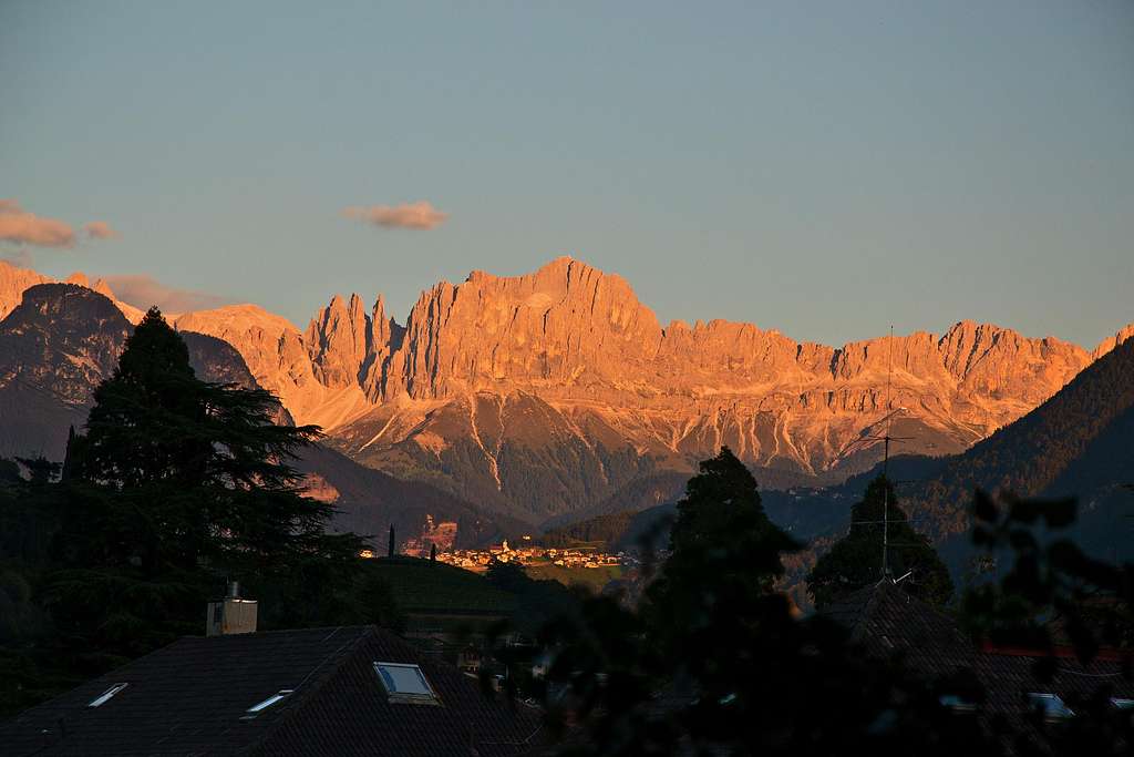
MULTIPOLYGON (((973 542, 999 560, 1012 557, 999 581, 972 587, 963 619, 978 639, 1043 650, 1034 665, 1041 681, 1059 667, 1057 647, 1069 645, 1083 663, 1106 648, 1124 650, 1124 675, 1132 678, 1134 648, 1134 563, 1109 563, 1084 553, 1066 538, 1077 515, 1073 498, 998 498, 978 490, 972 516, 973 542)), ((1076 713, 1061 727, 1049 727, 1036 714, 1031 733, 1021 734, 1018 754, 1125 755, 1134 745, 1134 717, 1110 705, 1100 679, 1092 695, 1072 698, 1076 713)))

